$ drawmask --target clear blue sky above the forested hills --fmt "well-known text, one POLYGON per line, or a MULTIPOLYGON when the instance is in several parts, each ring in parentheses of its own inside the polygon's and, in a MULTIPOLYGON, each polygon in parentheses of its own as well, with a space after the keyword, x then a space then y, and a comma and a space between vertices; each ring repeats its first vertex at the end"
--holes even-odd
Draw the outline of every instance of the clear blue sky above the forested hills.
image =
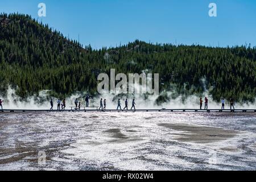
POLYGON ((43 23, 64 36, 80 37, 83 45, 112 47, 133 42, 256 46, 255 0, 0 0, 0 12, 38 17, 46 4, 43 23), (3 2, 4 1, 4 2, 3 2), (209 3, 217 17, 209 17, 209 3))

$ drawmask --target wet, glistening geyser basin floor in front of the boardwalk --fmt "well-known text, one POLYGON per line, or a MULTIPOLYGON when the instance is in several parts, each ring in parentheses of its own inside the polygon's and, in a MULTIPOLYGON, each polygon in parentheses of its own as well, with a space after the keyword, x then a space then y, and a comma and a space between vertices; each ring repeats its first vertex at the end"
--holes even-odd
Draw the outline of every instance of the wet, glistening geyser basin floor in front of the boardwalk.
POLYGON ((0 169, 255 170, 255 124, 255 113, 1 113, 0 169))

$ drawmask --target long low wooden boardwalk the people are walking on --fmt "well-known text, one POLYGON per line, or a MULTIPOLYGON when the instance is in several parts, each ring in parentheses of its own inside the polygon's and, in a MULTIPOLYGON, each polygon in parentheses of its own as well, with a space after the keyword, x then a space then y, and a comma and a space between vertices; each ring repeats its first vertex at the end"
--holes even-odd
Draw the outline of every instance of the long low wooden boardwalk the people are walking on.
POLYGON ((256 112, 256 109, 136 109, 136 110, 117 110, 117 109, 106 109, 106 110, 97 110, 97 109, 68 109, 68 110, 33 110, 33 109, 3 109, 0 110, 2 112, 256 112))

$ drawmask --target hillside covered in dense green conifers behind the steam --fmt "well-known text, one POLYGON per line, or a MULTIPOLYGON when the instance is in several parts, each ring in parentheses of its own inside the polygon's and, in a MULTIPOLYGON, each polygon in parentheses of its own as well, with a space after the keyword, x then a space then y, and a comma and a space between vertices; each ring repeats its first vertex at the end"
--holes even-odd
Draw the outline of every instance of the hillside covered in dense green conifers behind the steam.
POLYGON ((109 73, 110 68, 121 73, 159 73, 160 91, 171 90, 173 85, 179 94, 209 89, 216 101, 221 97, 254 101, 256 96, 255 47, 174 46, 135 40, 94 50, 28 15, 0 15, 2 95, 8 85, 18 86, 22 98, 43 89, 60 97, 83 90, 97 94, 97 75, 109 73))

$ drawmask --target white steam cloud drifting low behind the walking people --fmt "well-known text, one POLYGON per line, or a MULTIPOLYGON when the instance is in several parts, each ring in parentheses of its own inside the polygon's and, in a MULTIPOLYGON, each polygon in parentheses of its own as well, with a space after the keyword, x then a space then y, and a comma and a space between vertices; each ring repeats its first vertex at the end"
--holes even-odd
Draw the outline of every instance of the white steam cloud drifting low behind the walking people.
MULTIPOLYGON (((136 86, 135 86, 136 87, 136 86)), ((137 85, 138 87, 138 85, 137 85)), ((49 96, 49 90, 42 90, 39 92, 38 96, 28 97, 26 100, 22 100, 19 96, 15 94, 15 89, 12 89, 9 86, 7 94, 5 97, 0 95, 3 101, 3 109, 49 109, 49 101, 53 99, 53 109, 57 109, 57 98, 49 96)), ((195 95, 184 96, 178 95, 175 98, 172 98, 174 94, 177 95, 175 90, 173 91, 164 91, 161 94, 165 94, 170 100, 163 102, 160 105, 156 104, 156 99, 158 96, 155 95, 146 95, 146 94, 101 94, 100 96, 90 98, 89 106, 99 106, 100 98, 106 99, 106 109, 116 109, 117 100, 121 99, 121 107, 125 107, 125 99, 128 99, 128 109, 131 107, 131 101, 135 99, 136 109, 199 109, 199 97, 195 95)), ((208 98, 208 109, 221 109, 221 104, 213 101, 212 96, 209 94, 209 90, 205 90, 202 94, 204 97, 208 98)), ((65 98, 66 100, 66 109, 69 109, 69 106, 74 106, 76 98, 79 98, 79 101, 83 106, 85 106, 85 96, 86 92, 77 92, 65 98)), ((203 98, 204 98, 203 97, 203 98)), ((203 105, 204 108, 204 105, 203 105)), ((229 109, 229 103, 226 102, 225 109, 229 109)), ((254 103, 235 103, 235 109, 255 109, 254 103)))

